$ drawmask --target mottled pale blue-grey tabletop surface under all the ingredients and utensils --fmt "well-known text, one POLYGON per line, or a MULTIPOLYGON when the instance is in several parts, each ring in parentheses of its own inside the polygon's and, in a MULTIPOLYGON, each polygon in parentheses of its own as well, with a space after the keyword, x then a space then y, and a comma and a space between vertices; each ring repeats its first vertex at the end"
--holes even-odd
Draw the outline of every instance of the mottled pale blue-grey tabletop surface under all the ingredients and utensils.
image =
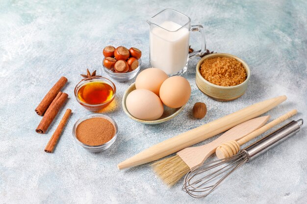
POLYGON ((242 166, 205 199, 182 192, 182 181, 167 188, 149 165, 123 171, 116 167, 157 142, 273 96, 286 94, 288 100, 268 113, 272 118, 297 108, 294 118, 307 119, 305 0, 1 0, 0 80, 1 204, 307 203, 307 125, 242 166), (90 113, 74 98, 79 74, 89 68, 106 76, 101 70, 106 45, 140 48, 143 68, 149 67, 146 19, 164 8, 204 25, 210 50, 237 55, 249 64, 247 92, 231 102, 208 98, 195 85, 199 59, 193 59, 184 75, 192 87, 184 111, 171 121, 149 126, 130 120, 122 110, 121 98, 133 80, 116 82, 116 99, 103 113, 117 121, 118 139, 105 152, 86 152, 72 136, 75 121, 90 113), (34 130, 41 117, 34 109, 60 76, 69 79, 64 91, 70 99, 64 108, 72 109, 73 115, 55 152, 47 154, 44 147, 64 111, 46 135, 39 135, 34 130), (208 107, 203 120, 191 116, 197 101, 208 107))

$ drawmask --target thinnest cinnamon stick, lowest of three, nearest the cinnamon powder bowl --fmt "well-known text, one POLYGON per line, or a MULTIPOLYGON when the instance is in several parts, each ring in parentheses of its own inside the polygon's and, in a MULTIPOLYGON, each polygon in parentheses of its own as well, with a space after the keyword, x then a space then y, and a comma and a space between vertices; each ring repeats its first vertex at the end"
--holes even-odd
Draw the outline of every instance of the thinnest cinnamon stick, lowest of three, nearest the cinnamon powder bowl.
POLYGON ((53 135, 51 136, 47 146, 45 147, 45 152, 52 153, 54 150, 54 147, 58 141, 58 139, 61 136, 62 130, 70 116, 70 113, 72 113, 72 110, 67 109, 64 116, 62 117, 59 125, 57 126, 56 130, 54 131, 53 135))

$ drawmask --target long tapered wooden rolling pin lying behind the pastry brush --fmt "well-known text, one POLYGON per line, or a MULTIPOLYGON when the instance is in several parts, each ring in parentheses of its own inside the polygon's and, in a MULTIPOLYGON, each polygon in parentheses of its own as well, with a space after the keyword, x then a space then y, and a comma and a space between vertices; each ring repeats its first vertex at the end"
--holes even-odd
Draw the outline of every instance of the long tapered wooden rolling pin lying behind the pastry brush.
POLYGON ((204 141, 207 138, 225 132, 242 122, 266 113, 267 111, 281 104, 286 99, 287 97, 283 95, 248 106, 235 113, 231 113, 198 128, 153 145, 143 152, 140 152, 139 154, 119 163, 117 167, 119 169, 130 168, 178 152, 186 147, 204 141))

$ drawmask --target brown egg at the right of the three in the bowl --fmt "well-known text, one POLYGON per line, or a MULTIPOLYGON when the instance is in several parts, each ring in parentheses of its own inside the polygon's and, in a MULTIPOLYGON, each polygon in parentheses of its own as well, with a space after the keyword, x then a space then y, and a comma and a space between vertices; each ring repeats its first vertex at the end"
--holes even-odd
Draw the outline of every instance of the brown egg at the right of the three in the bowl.
POLYGON ((164 105, 179 108, 186 104, 191 95, 191 86, 182 76, 166 79, 160 87, 160 98, 164 105))

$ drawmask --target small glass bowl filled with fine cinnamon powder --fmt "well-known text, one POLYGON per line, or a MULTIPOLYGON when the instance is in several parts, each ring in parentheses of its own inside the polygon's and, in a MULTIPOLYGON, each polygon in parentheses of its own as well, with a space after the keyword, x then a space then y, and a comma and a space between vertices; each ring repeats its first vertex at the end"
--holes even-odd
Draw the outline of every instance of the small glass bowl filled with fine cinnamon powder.
POLYGON ((109 148, 116 140, 117 132, 116 122, 100 113, 81 117, 73 128, 77 144, 89 152, 101 152, 109 148))

